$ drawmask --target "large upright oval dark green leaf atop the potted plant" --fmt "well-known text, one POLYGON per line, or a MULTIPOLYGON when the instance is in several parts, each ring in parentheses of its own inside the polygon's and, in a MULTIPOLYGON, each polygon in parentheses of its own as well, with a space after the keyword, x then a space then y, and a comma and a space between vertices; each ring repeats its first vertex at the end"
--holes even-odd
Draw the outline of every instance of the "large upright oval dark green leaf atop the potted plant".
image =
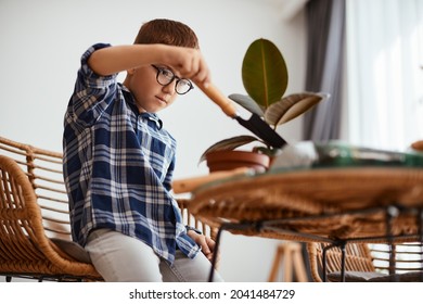
POLYGON ((247 93, 265 109, 281 100, 287 87, 287 68, 281 52, 267 39, 255 40, 242 63, 247 93))

